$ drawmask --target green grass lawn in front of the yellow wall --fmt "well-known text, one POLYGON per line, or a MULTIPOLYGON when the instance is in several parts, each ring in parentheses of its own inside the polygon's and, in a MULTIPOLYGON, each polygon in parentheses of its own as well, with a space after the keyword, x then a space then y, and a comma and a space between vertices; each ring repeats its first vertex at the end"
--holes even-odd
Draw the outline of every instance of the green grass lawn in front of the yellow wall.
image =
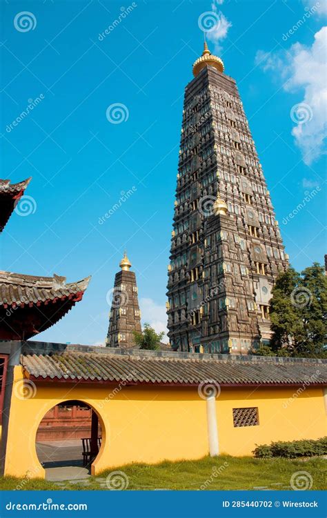
POLYGON ((161 464, 130 464, 106 470, 87 479, 88 485, 58 486, 40 479, 27 480, 13 477, 0 478, 1 490, 108 490, 106 477, 112 471, 121 471, 128 477, 129 490, 253 490, 291 489, 290 478, 305 471, 313 481, 311 489, 326 488, 326 461, 321 458, 308 461, 288 459, 254 459, 252 457, 204 457, 198 461, 162 462, 161 464))

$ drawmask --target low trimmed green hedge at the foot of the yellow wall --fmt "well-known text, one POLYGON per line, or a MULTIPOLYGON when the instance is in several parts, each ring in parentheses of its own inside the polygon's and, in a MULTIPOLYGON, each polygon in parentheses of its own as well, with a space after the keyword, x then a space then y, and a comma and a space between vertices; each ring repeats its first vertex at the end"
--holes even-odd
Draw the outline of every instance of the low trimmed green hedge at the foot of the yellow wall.
MULTIPOLYGON (((256 445, 257 446, 257 445, 256 445)), ((277 441, 257 446, 253 450, 255 457, 268 459, 270 457, 285 457, 296 459, 297 457, 313 457, 314 455, 327 455, 327 437, 322 439, 304 439, 303 441, 277 441)))

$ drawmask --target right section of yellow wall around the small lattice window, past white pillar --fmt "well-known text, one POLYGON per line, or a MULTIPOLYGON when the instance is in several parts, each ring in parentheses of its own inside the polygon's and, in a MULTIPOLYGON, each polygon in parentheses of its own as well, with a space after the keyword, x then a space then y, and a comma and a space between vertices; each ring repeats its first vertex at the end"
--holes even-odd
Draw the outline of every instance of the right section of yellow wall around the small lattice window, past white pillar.
POLYGON ((306 388, 299 395, 297 388, 222 388, 216 407, 221 453, 251 455, 256 444, 326 435, 322 388, 306 388), (253 406, 259 409, 259 426, 234 428, 232 408, 253 406))

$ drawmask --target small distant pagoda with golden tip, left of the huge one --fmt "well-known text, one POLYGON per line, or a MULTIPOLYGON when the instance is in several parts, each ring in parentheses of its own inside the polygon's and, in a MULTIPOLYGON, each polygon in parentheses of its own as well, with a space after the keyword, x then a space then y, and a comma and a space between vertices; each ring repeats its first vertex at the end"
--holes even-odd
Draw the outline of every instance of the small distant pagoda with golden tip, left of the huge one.
POLYGON ((115 275, 112 303, 109 315, 107 347, 135 347, 133 331, 141 332, 141 312, 137 297, 137 283, 126 252, 115 275))

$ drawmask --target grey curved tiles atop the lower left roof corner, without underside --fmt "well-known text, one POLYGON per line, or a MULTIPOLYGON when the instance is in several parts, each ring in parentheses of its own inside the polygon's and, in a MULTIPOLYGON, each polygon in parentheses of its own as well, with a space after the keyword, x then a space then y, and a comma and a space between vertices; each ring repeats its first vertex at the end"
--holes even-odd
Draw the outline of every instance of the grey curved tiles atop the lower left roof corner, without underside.
POLYGON ((36 277, 0 270, 0 307, 43 303, 54 299, 74 299, 83 293, 90 277, 75 283, 66 283, 66 277, 36 277))

